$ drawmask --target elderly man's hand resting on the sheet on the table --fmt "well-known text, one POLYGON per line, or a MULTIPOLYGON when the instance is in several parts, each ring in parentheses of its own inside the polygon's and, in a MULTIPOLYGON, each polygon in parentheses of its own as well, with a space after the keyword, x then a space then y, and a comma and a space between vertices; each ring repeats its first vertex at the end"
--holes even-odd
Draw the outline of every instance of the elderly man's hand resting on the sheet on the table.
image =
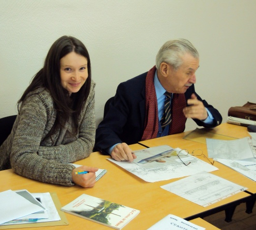
POLYGON ((117 161, 128 160, 130 162, 137 157, 126 143, 117 144, 111 152, 112 158, 117 161))

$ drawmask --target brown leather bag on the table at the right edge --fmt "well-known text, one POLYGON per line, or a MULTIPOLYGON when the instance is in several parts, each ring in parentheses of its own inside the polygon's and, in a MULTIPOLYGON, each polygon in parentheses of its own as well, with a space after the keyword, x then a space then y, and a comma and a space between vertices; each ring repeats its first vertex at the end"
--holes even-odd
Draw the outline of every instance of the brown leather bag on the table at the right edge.
POLYGON ((256 121, 256 103, 247 102, 243 106, 230 107, 228 116, 256 121))

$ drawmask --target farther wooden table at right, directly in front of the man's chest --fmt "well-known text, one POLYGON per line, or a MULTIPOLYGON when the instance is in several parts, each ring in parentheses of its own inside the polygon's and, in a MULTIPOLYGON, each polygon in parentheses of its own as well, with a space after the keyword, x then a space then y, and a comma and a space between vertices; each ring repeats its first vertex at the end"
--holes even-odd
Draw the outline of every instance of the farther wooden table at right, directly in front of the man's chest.
MULTIPOLYGON (((154 147, 158 145, 170 145, 173 148, 180 147, 180 149, 187 149, 190 153, 195 150, 195 149, 201 149, 203 153, 207 156, 207 146, 206 144, 195 142, 192 140, 186 140, 183 139, 185 136, 187 136, 191 131, 187 131, 184 133, 180 134, 175 134, 175 135, 170 135, 170 136, 165 136, 165 137, 160 137, 160 138, 155 138, 151 140, 146 140, 146 141, 141 141, 139 143, 143 144, 144 146, 148 147, 154 147)), ((228 124, 228 123, 223 123, 213 129, 209 129, 209 132, 214 133, 214 134, 220 134, 220 135, 225 135, 229 137, 234 137, 234 138, 244 138, 250 136, 247 132, 247 127, 244 126, 239 126, 239 125, 233 125, 233 124, 228 124)), ((204 160, 209 163, 207 159, 205 159, 203 156, 199 157, 201 160, 204 160)), ((251 213, 252 208, 255 203, 255 195, 256 195, 256 184, 253 180, 249 179, 248 177, 242 175, 241 173, 238 173, 230 168, 228 168, 225 165, 222 165, 219 162, 214 162, 214 166, 217 167, 219 170, 211 172, 212 174, 215 174, 217 176, 220 176, 222 178, 228 179, 233 183, 242 185, 244 187, 247 187, 248 189, 246 192, 248 194, 251 194, 252 196, 248 197, 248 200, 246 201, 247 203, 247 213, 251 213)), ((237 202, 239 204, 240 201, 237 202)), ((236 204, 236 202, 234 202, 236 204)), ((236 205, 229 206, 226 209, 226 221, 231 221, 233 212, 235 210, 236 205), (228 212, 228 210, 231 210, 228 212)), ((219 209, 215 209, 219 210, 219 209)), ((213 210, 214 211, 214 210, 213 210)))

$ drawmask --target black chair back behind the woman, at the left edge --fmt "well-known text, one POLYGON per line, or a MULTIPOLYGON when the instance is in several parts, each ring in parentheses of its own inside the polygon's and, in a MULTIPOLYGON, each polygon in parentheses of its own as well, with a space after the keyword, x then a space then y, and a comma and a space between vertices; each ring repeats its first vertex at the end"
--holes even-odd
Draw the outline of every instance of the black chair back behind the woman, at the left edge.
POLYGON ((16 117, 17 115, 13 115, 0 119, 0 146, 11 133, 11 129, 16 117))

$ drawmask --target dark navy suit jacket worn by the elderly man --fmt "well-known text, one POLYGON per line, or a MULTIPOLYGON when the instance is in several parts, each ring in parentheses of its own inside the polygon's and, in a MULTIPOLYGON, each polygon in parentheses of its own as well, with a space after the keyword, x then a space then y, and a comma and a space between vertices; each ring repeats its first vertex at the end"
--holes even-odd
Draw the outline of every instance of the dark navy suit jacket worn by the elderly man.
MULTIPOLYGON (((105 152, 116 143, 125 142, 134 144, 141 141, 145 125, 145 80, 147 72, 121 83, 115 97, 109 103, 109 108, 104 111, 104 119, 96 130, 95 151, 105 152)), ((207 104, 195 92, 194 85, 185 92, 186 101, 195 93, 198 100, 209 109, 214 117, 214 123, 205 124, 198 119, 194 121, 199 126, 212 128, 219 125, 222 117, 217 109, 207 104)))

